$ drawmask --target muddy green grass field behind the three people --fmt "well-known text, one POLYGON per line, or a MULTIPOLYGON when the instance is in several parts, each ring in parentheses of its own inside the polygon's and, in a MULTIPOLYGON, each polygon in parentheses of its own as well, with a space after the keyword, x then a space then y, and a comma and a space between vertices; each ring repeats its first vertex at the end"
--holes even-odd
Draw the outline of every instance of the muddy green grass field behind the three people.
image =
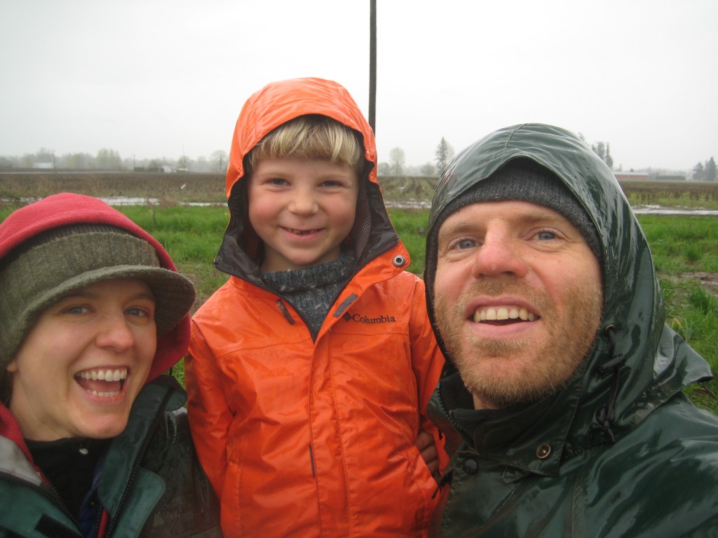
MULTIPOLYGON (((718 184, 623 185, 634 205, 718 209, 718 184), (647 187, 648 185, 648 187, 647 187), (634 188, 635 187, 635 188, 634 188), (683 187, 679 189, 679 187, 683 187), (651 190, 653 189, 653 190, 651 190), (693 204, 693 205, 691 205, 693 204)), ((383 190, 392 202, 426 202, 435 179, 386 179, 383 190), (404 184, 402 187, 401 184, 404 184), (429 194, 427 194, 427 192, 429 194)), ((156 204, 121 207, 131 220, 167 248, 177 267, 197 287, 203 303, 225 280, 212 266, 229 214, 223 177, 218 174, 0 174, 0 220, 31 198, 55 192, 98 197, 156 199, 156 204), (129 176, 129 178, 128 178, 129 176), (188 207, 180 202, 217 202, 188 207)), ((411 255, 409 270, 424 272, 426 209, 390 209, 391 220, 411 255)), ((718 370, 718 217, 638 215, 666 302, 666 323, 718 370)), ((718 380, 691 390, 698 405, 718 414, 718 380)))

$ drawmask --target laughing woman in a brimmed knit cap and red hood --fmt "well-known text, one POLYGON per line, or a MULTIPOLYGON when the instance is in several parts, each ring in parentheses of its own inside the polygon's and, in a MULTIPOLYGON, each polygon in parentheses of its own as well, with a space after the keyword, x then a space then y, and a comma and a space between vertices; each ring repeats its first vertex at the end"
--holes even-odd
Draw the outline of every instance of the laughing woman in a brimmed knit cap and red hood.
POLYGON ((160 375, 195 288, 101 200, 57 194, 0 225, 0 536, 220 536, 186 394, 160 375))

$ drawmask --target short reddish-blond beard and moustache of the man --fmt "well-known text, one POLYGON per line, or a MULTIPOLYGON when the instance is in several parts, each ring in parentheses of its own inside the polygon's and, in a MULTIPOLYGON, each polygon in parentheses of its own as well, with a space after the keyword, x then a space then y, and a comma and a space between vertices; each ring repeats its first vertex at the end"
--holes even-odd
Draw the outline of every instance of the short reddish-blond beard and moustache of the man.
POLYGON ((572 379, 600 326, 600 284, 588 290, 569 288, 565 299, 566 310, 561 318, 548 293, 515 278, 476 281, 452 305, 436 296, 437 326, 449 351, 447 359, 454 362, 467 390, 482 407, 503 409, 536 402, 556 394, 572 379), (540 314, 538 323, 546 328, 544 342, 531 337, 490 340, 462 335, 464 324, 469 323, 464 317, 467 301, 477 295, 498 296, 505 292, 521 296, 540 314))

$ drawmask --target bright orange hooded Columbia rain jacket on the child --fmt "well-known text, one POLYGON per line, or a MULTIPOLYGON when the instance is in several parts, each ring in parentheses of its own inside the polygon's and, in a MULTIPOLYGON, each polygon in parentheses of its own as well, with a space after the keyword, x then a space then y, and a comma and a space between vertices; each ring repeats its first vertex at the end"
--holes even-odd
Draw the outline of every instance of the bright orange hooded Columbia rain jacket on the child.
POLYGON ((426 405, 444 359, 424 283, 404 271, 409 256, 376 162, 370 126, 335 82, 275 82, 241 111, 227 172, 230 222, 215 258, 231 276, 192 319, 186 366, 190 427, 225 536, 427 534, 437 484, 414 441, 419 428, 438 435, 426 405), (292 303, 264 284, 243 181, 248 151, 306 114, 361 133, 367 161, 362 226, 352 234, 358 268, 314 341, 292 303))

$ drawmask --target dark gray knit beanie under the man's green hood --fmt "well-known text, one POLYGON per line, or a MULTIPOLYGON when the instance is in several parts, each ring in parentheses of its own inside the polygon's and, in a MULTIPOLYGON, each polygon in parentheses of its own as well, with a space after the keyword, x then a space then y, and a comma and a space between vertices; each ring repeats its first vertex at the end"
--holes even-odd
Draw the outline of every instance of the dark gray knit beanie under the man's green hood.
POLYGON ((528 159, 508 161, 483 181, 449 202, 434 225, 438 233, 442 222, 462 207, 478 202, 521 200, 550 207, 561 213, 581 232, 599 265, 603 265, 601 241, 593 222, 579 201, 556 174, 528 159))

